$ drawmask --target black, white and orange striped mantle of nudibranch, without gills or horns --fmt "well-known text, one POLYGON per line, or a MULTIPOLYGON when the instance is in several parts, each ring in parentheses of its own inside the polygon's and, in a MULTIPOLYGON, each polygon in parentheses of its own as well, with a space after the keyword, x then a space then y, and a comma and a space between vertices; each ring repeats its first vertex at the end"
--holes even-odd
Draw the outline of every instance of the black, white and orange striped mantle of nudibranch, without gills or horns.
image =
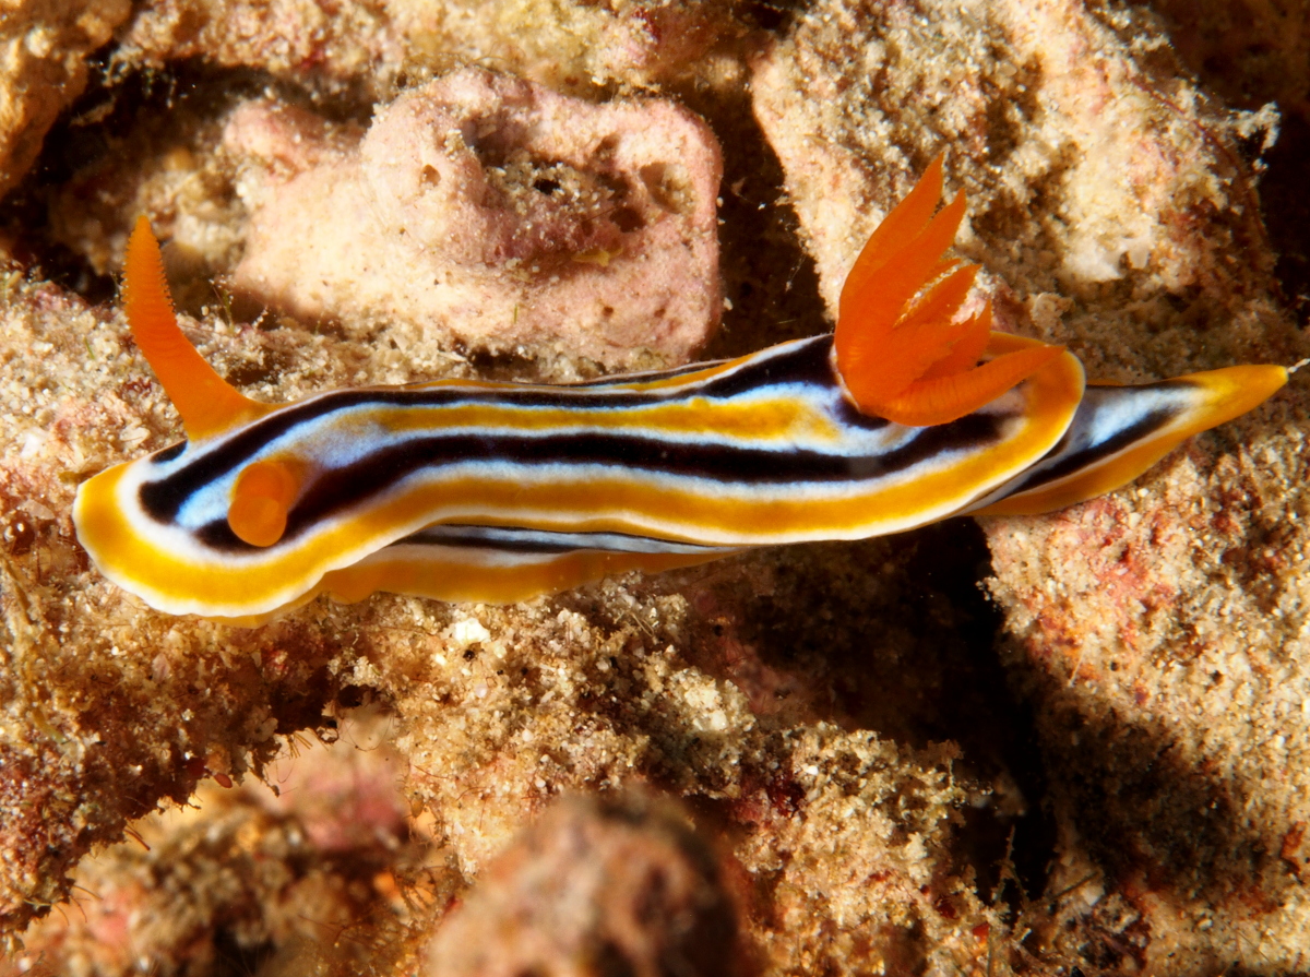
MULTIPOLYGON (((1001 348, 1023 342, 997 334, 1001 348)), ((220 617, 290 604, 406 537, 417 557, 441 540, 421 530, 444 524, 592 534, 584 549, 616 554, 613 568, 880 536, 948 516, 1041 458, 1082 396, 1078 360, 1058 363, 918 428, 846 401, 831 337, 641 380, 335 390, 106 473, 77 517, 123 541, 96 554, 111 579, 161 609, 220 617), (308 474, 283 536, 253 546, 228 507, 240 473, 267 458, 308 474), (140 567, 156 571, 149 589, 140 567)), ((469 555, 461 541, 444 545, 469 555)))

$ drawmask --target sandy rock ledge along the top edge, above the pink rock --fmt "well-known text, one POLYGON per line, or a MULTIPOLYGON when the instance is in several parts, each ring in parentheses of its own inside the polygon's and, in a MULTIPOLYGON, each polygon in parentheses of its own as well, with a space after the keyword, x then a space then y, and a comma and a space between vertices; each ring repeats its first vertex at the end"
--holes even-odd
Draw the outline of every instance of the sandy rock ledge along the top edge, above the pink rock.
POLYGON ((119 46, 131 64, 203 56, 325 90, 392 97, 406 80, 489 63, 565 90, 696 76, 697 60, 744 33, 735 3, 508 0, 337 3, 164 0, 119 46))

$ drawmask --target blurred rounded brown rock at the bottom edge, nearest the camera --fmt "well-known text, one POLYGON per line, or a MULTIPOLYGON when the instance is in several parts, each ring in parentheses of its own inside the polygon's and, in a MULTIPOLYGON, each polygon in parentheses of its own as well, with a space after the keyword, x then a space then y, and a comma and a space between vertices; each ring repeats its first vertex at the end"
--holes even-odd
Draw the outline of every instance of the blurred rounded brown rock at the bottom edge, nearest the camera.
POLYGON ((571 796, 487 866, 427 951, 432 977, 745 972, 722 871, 672 807, 571 796))

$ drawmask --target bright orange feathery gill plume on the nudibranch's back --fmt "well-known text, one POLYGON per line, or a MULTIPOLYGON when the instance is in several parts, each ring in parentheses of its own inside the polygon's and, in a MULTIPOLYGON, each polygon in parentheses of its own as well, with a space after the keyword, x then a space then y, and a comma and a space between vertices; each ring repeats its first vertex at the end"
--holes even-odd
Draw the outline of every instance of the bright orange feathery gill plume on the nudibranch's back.
POLYGON ((942 157, 874 230, 841 289, 837 371, 861 413, 926 427, 962 418, 1051 363, 1061 346, 982 358, 992 305, 956 321, 977 265, 943 259, 964 194, 942 199, 942 157))

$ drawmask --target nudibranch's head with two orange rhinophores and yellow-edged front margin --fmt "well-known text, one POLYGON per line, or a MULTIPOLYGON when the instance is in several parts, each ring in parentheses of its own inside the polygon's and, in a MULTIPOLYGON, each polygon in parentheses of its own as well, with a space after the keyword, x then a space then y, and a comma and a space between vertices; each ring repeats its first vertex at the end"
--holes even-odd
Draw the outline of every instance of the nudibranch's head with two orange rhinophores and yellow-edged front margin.
POLYGON ((254 422, 279 409, 244 396, 186 339, 144 216, 128 238, 124 266, 132 338, 187 440, 83 483, 73 504, 77 537, 106 576, 173 613, 242 616, 253 591, 267 591, 270 608, 287 604, 322 568, 288 564, 265 550, 282 540, 313 462, 279 451, 276 439, 233 453, 233 444, 250 440, 254 422))

